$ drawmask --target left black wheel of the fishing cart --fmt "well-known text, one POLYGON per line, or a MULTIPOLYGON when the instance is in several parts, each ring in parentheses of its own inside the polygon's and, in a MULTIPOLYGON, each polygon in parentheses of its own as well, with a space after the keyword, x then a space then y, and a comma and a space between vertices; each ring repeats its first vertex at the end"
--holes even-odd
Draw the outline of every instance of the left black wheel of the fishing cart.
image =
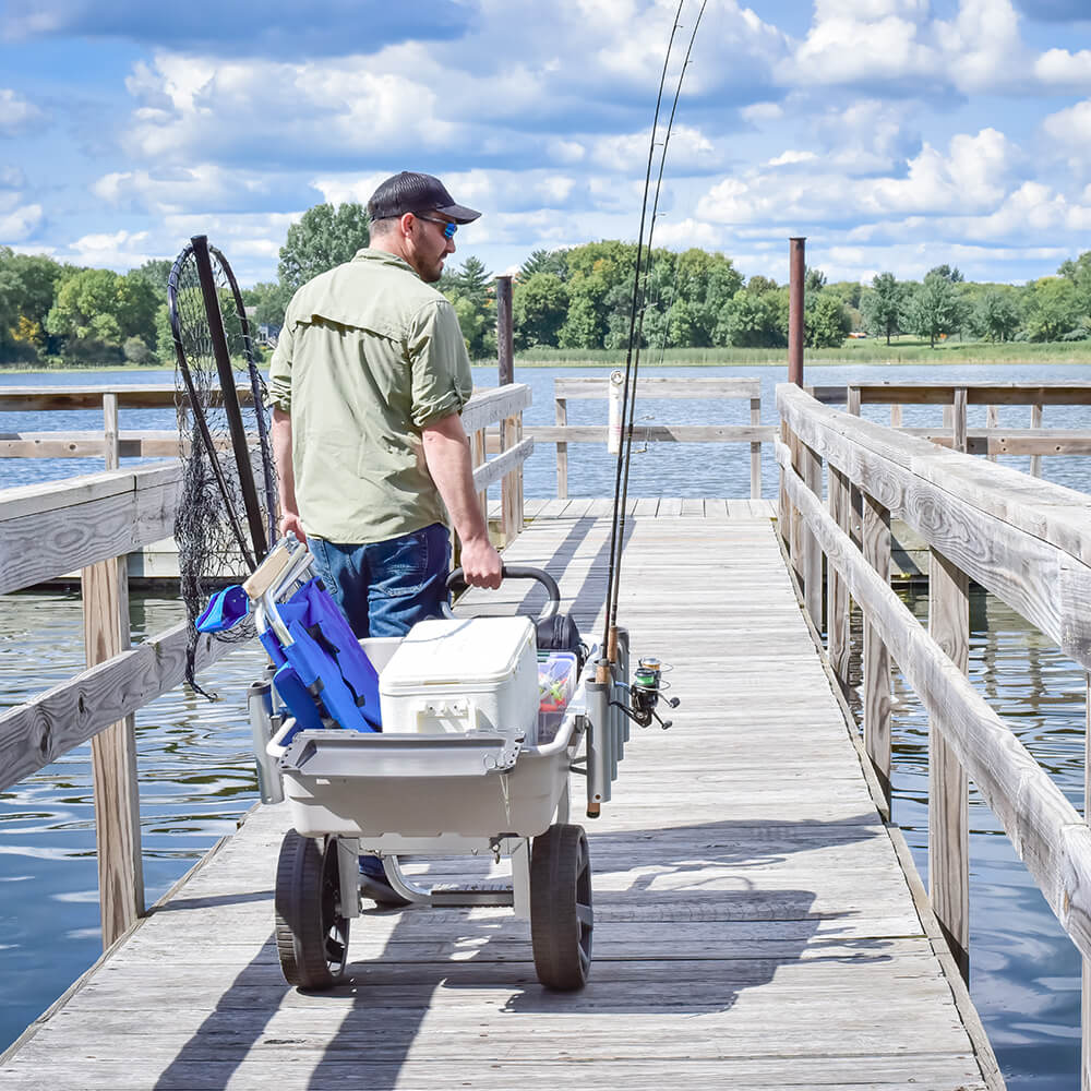
POLYGON ((348 961, 348 920, 340 913, 337 840, 325 847, 293 829, 276 870, 276 947, 289 985, 328 988, 348 961))

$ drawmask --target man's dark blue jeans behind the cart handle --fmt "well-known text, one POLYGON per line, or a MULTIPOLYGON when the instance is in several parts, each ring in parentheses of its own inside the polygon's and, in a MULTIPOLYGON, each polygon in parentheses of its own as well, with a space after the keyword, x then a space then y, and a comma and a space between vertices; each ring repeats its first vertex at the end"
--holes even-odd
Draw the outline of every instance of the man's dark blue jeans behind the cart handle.
POLYGON ((405 636, 440 616, 447 601, 451 535, 441 523, 385 542, 308 541, 314 571, 345 611, 357 637, 405 636))

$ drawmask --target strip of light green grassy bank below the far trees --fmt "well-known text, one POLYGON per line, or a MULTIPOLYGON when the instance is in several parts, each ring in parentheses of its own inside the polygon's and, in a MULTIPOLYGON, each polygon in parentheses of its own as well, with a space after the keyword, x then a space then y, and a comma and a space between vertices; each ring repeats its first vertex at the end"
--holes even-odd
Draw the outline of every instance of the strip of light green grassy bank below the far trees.
MULTIPOLYGON (((640 352, 643 367, 659 363, 660 353, 655 349, 640 352)), ((915 338, 894 338, 888 346, 883 339, 846 341, 841 348, 807 349, 804 361, 824 365, 873 364, 889 365, 913 363, 979 364, 979 363, 1086 363, 1091 364, 1091 341, 1030 341, 997 345, 992 341, 949 340, 931 348, 927 341, 915 338)), ((478 361, 482 364, 491 361, 478 361)), ((516 363, 526 368, 614 368, 625 362, 623 349, 531 349, 516 356, 516 363)), ((788 350, 783 348, 682 348, 668 349, 662 357, 664 364, 688 368, 718 367, 784 367, 788 350)))

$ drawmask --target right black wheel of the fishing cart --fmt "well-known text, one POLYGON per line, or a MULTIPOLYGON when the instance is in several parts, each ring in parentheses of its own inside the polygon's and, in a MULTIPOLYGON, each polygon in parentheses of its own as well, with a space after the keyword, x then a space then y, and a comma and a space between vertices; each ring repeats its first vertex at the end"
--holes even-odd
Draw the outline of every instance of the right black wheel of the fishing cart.
POLYGON ((591 864, 583 826, 550 826, 530 853, 530 944, 547 988, 583 988, 591 968, 591 864))

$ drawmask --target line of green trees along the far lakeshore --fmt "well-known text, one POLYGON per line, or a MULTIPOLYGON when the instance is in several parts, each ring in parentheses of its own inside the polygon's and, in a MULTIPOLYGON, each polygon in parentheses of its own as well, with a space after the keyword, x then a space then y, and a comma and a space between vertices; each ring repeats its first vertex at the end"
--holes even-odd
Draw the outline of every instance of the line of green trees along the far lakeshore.
MULTIPOLYGON (((288 228, 277 279, 243 290, 255 326, 279 327, 292 293, 348 261, 369 240, 365 209, 320 204, 288 228)), ((517 350, 616 349, 628 344, 635 243, 603 240, 537 250, 513 289, 517 350)), ((664 249, 642 262, 639 328, 648 348, 778 348, 788 344, 788 287, 746 277, 730 257, 664 249)), ((0 247, 0 364, 168 363, 171 262, 148 261, 125 274, 82 268, 0 247)), ((494 356, 493 274, 476 257, 444 272, 437 287, 454 304, 470 356, 494 356)), ((966 335, 992 341, 1091 338, 1091 251, 1055 276, 1021 286, 964 280, 939 265, 921 280, 880 273, 870 285, 827 283, 806 274, 804 329, 813 348, 840 346, 853 332, 937 340, 966 335)))

